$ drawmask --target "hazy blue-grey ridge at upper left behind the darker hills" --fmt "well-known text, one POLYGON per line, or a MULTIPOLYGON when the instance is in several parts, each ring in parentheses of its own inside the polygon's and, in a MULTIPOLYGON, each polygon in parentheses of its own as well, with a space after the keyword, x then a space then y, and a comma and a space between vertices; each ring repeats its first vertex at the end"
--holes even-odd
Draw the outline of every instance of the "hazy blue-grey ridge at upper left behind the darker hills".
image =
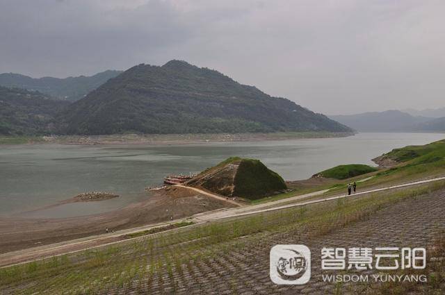
POLYGON ((3 73, 0 74, 0 86, 33 90, 53 96, 56 99, 77 101, 120 73, 122 71, 108 70, 93 76, 68 78, 31 78, 22 74, 3 73))

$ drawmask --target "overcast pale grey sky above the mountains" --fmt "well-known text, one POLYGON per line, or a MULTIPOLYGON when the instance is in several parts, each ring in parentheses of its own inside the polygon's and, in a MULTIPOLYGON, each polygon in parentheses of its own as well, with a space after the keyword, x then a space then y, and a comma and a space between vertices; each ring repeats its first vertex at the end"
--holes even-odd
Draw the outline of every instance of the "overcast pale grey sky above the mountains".
POLYGON ((0 72, 186 60, 325 114, 445 106, 445 1, 0 0, 0 72))

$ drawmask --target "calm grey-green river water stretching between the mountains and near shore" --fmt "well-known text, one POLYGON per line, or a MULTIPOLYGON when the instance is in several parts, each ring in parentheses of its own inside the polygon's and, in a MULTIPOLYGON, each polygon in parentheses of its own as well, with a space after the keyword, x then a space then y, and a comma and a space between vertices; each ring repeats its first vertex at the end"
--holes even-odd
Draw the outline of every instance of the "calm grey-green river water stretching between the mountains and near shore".
POLYGON ((340 164, 373 165, 372 158, 391 149, 444 137, 437 133, 361 133, 343 138, 165 146, 0 146, 0 215, 40 208, 92 190, 121 197, 58 206, 32 215, 71 217, 122 208, 149 197, 144 187, 161 185, 166 174, 202 171, 234 155, 257 158, 284 179, 297 180, 340 164))

